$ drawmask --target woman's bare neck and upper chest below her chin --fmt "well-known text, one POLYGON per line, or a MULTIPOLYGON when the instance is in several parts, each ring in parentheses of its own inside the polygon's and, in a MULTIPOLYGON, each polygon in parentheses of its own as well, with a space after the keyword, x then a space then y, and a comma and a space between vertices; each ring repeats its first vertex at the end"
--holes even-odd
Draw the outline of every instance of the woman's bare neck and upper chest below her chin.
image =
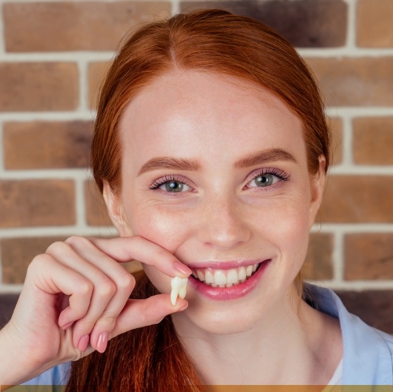
POLYGON ((319 352, 326 341, 321 336, 326 329, 325 316, 294 292, 285 298, 252 328, 235 334, 211 334, 175 315, 176 331, 203 384, 328 382, 340 355, 331 365, 321 364, 326 360, 319 352))

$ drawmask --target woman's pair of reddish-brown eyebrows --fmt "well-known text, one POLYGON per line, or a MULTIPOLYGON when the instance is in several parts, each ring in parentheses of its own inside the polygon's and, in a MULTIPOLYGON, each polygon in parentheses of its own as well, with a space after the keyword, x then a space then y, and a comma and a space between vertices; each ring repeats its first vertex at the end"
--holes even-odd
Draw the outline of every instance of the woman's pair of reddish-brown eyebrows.
MULTIPOLYGON (((249 166, 255 166, 257 164, 277 161, 297 162, 295 157, 289 152, 282 150, 281 148, 272 148, 271 150, 255 152, 255 154, 238 159, 238 161, 233 164, 233 167, 236 169, 242 169, 249 166)), ((141 176, 141 174, 146 173, 147 171, 158 169, 197 171, 200 169, 200 164, 193 159, 157 157, 149 159, 148 162, 143 164, 141 169, 138 171, 138 176, 141 176)))

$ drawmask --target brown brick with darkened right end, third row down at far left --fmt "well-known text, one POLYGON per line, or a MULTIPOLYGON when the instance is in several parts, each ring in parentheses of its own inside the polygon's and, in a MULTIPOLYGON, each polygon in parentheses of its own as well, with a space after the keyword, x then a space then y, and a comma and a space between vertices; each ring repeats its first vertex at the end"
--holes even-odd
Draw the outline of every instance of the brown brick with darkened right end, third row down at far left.
POLYGON ((89 163, 92 122, 4 124, 6 169, 62 169, 89 163))

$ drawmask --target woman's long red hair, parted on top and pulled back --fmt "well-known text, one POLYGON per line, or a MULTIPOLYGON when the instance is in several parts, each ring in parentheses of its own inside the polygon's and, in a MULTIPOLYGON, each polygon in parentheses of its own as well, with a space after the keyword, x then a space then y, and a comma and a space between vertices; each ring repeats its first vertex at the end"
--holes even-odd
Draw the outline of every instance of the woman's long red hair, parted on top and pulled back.
MULTIPOLYGON (((119 122, 124 108, 144 86, 171 70, 196 70, 237 77, 262 86, 302 120, 307 163, 318 174, 321 155, 330 163, 330 132, 321 96, 307 65, 270 27, 228 11, 179 14, 139 28, 115 57, 98 102, 91 164, 98 188, 121 187, 119 122)), ((143 273, 133 296, 155 289, 143 273)), ((159 325, 112 339, 104 354, 72 365, 67 392, 202 391, 191 360, 176 337, 170 316, 159 325)))

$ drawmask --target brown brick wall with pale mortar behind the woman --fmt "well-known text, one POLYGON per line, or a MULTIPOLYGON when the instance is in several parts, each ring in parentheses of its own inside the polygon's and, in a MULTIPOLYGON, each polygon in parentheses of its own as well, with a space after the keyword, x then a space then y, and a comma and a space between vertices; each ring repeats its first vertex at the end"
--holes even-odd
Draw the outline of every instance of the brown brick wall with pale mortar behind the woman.
POLYGON ((392 0, 0 0, 0 293, 54 240, 115 234, 87 169, 99 80, 130 27, 206 6, 272 25, 316 73, 335 166, 304 277, 393 332, 392 0))

